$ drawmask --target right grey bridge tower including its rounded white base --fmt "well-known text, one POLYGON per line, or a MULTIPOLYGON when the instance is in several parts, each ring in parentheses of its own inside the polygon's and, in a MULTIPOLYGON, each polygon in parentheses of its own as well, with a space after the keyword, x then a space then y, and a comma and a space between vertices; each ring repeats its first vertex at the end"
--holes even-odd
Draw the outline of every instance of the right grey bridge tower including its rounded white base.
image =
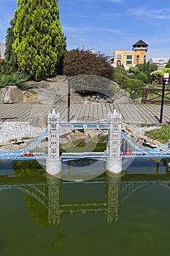
POLYGON ((112 113, 109 113, 108 157, 106 162, 106 168, 111 173, 121 173, 122 171, 121 129, 122 115, 114 109, 112 113))

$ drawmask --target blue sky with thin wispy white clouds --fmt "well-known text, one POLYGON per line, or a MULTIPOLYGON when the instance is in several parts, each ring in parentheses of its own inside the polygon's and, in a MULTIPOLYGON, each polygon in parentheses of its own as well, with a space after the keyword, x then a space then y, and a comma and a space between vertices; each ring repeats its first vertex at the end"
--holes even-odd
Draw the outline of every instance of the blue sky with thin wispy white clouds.
MULTIPOLYGON (((142 39, 147 59, 170 57, 169 0, 58 0, 67 50, 84 48, 113 56, 115 49, 131 50, 142 39)), ((0 42, 17 0, 0 0, 0 42)))

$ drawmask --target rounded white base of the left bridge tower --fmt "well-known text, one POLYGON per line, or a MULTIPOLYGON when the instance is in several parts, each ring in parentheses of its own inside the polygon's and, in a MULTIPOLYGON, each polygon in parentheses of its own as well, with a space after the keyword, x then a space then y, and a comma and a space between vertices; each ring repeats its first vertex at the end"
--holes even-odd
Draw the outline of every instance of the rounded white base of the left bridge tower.
POLYGON ((61 157, 46 159, 46 173, 56 176, 61 173, 61 157))

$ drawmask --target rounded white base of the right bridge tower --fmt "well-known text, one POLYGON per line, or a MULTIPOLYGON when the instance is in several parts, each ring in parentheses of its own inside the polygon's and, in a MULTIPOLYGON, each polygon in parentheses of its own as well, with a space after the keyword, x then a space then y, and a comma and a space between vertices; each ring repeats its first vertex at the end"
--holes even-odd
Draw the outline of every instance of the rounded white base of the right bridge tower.
POLYGON ((122 157, 107 157, 107 162, 105 165, 106 169, 110 173, 119 174, 122 172, 122 157))

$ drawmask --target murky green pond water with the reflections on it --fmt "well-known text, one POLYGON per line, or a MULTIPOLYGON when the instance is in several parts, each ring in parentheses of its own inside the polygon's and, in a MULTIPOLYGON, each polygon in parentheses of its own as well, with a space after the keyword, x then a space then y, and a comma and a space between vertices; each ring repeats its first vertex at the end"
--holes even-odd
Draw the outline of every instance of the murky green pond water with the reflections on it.
POLYGON ((77 183, 1 163, 0 255, 169 255, 169 188, 169 170, 149 160, 77 183))

